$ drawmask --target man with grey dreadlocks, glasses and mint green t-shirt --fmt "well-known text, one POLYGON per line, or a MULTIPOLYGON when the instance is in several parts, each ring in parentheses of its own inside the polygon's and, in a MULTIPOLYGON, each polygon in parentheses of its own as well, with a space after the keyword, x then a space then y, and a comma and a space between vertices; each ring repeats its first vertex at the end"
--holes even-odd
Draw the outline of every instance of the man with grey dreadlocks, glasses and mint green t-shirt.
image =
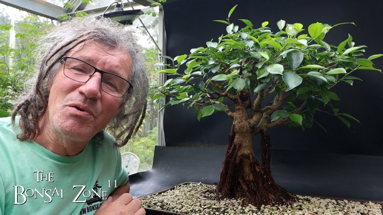
POLYGON ((144 215, 116 148, 146 110, 136 39, 90 15, 59 24, 37 50, 35 76, 0 119, 0 214, 144 215))

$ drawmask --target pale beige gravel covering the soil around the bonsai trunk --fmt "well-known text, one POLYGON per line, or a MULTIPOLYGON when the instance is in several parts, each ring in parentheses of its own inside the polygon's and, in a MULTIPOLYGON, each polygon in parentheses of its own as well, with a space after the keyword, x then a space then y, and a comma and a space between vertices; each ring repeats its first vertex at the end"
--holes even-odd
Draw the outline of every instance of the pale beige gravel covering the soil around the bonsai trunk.
POLYGON ((185 184, 167 192, 142 198, 144 207, 190 215, 382 215, 380 204, 348 200, 320 199, 296 195, 293 205, 256 208, 240 200, 216 199, 215 185, 185 184))

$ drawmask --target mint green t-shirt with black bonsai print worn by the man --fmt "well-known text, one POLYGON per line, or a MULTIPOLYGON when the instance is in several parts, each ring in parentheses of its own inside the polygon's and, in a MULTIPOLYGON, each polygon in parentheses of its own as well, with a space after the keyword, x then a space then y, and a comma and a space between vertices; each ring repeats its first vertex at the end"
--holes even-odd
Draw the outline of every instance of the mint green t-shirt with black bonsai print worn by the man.
POLYGON ((57 155, 20 141, 10 117, 0 118, 0 215, 94 214, 116 187, 128 182, 113 137, 91 140, 79 154, 57 155), (100 196, 100 197, 99 197, 100 196))

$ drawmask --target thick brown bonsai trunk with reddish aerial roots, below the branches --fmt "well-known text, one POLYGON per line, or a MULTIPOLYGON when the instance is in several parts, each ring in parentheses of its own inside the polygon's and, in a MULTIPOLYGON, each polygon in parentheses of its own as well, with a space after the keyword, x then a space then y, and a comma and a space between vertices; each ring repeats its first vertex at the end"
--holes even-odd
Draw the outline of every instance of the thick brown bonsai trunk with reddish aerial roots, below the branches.
POLYGON ((262 135, 262 163, 260 163, 252 149, 252 139, 257 133, 249 127, 246 111, 242 114, 240 112, 236 109, 229 135, 229 146, 217 186, 220 197, 243 199, 243 203, 255 207, 294 202, 295 197, 278 186, 272 177, 270 137, 267 129, 260 130, 262 135))

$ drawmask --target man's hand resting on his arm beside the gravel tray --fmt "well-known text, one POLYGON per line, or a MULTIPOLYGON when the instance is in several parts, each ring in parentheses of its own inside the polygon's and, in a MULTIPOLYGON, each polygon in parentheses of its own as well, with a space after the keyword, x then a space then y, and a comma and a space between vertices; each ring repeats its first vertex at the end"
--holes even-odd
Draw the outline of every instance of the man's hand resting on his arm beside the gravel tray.
POLYGON ((145 215, 141 205, 141 200, 133 199, 129 193, 124 193, 117 199, 110 196, 101 204, 95 215, 145 215))

